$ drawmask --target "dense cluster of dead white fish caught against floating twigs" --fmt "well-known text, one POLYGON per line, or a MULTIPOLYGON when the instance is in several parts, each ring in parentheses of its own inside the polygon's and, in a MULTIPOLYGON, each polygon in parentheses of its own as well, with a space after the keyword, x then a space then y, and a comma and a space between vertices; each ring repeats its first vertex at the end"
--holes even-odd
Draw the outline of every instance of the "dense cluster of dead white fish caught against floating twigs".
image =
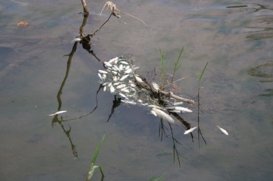
MULTIPOLYGON (((175 103, 167 100, 168 106, 162 106, 156 104, 156 100, 149 94, 144 94, 142 88, 138 85, 144 83, 144 80, 135 74, 135 67, 132 63, 131 57, 119 56, 104 62, 105 70, 98 70, 98 76, 103 85, 104 91, 109 90, 111 93, 120 96, 122 102, 131 105, 144 105, 148 107, 151 114, 159 116, 160 118, 167 120, 169 123, 175 124, 176 121, 165 111, 168 112, 192 112, 186 107, 180 107, 180 103, 175 103)), ((146 83, 146 82, 145 82, 146 83)), ((153 92, 160 92, 160 87, 156 83, 151 83, 151 89, 153 92)))

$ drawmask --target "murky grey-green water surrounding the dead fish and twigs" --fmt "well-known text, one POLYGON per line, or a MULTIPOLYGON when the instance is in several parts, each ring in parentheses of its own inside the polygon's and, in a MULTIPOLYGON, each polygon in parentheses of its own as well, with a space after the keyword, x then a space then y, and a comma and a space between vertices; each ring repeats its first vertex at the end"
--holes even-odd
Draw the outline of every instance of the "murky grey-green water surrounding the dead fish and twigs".
MULTIPOLYGON (((78 1, 0 3, 1 180, 85 180, 93 153, 106 134, 97 164, 104 180, 272 180, 273 3, 257 1, 115 1, 122 14, 92 39, 101 61, 133 54, 138 74, 160 81, 159 49, 167 70, 185 48, 176 78, 179 93, 197 100, 199 72, 209 61, 200 92, 200 129, 194 142, 173 126, 180 153, 173 163, 171 130, 158 136, 160 120, 144 107, 121 104, 109 122, 114 96, 97 93, 102 63, 77 45, 66 77, 70 41, 83 17, 78 1), (27 28, 17 28, 28 21, 27 28), (156 68, 156 69, 155 69, 156 68), (155 71, 154 71, 155 70, 155 71), (63 83, 63 84, 62 84, 63 83), (58 94, 62 89, 62 94, 58 94), (57 99, 59 98, 59 101, 57 99), (62 102, 62 103, 61 103, 62 102), (66 114, 47 116, 66 110, 66 114), (220 133, 225 128, 229 136, 220 133)), ((88 1, 84 31, 109 14, 88 1)), ((197 104, 182 114, 197 125, 197 104)), ((166 123, 165 123, 166 124, 166 123)), ((167 124, 166 124, 167 125, 167 124)), ((167 125, 167 127, 169 127, 167 125)), ((96 172, 93 180, 100 180, 96 172)))

